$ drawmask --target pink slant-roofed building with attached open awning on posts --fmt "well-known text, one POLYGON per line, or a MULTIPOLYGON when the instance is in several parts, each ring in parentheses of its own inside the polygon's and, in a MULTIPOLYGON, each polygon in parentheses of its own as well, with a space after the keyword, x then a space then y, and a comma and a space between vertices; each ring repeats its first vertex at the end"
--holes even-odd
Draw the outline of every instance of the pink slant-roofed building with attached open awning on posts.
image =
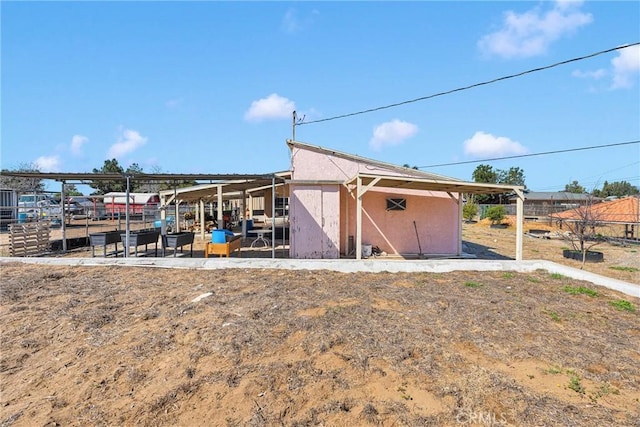
MULTIPOLYGON (((291 258, 360 259, 367 245, 405 257, 459 257, 464 193, 522 196, 522 187, 461 181, 298 141, 287 144, 291 258)), ((522 213, 522 197, 518 205, 522 213)), ((521 215, 518 225, 516 259, 522 259, 521 215)))

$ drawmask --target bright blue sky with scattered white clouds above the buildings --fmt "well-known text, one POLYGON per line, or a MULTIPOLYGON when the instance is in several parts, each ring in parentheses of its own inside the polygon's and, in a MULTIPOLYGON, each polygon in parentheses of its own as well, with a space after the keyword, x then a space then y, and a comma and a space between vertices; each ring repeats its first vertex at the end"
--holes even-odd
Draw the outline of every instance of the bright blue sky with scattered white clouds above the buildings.
MULTIPOLYGON (((1 13, 2 168, 268 173, 296 139, 411 166, 640 139, 625 2, 12 2, 1 13)), ((640 185, 640 144, 485 161, 536 191, 640 185)), ((480 163, 422 168, 472 180, 480 163)), ((57 184, 54 186, 57 189, 57 184)))

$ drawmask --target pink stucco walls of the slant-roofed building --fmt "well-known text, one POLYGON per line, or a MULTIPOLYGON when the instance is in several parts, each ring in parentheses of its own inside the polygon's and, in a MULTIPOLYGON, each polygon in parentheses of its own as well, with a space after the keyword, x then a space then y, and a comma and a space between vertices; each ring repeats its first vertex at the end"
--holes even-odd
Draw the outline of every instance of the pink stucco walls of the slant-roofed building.
MULTIPOLYGON (((340 180, 358 173, 402 176, 399 171, 351 160, 328 153, 294 147, 292 180, 340 180)), ((336 251, 348 254, 349 236, 356 234, 356 201, 343 186, 334 186, 339 199, 323 202, 318 184, 292 186, 290 193, 290 255, 292 258, 332 258, 336 251), (315 196, 313 195, 315 194, 315 196), (327 223, 331 227, 327 227, 327 223), (335 227, 334 227, 335 224, 335 227), (330 230, 322 233, 318 230, 330 230), (314 231, 315 230, 315 231, 314 231), (314 243, 324 239, 327 248, 314 243), (335 245, 335 248, 334 246, 335 245), (329 252, 331 250, 331 252, 329 252), (320 251, 320 252, 318 252, 320 251)), ((390 254, 456 254, 459 236, 459 209, 447 193, 374 188, 363 197, 363 243, 378 246, 390 254), (406 198, 405 211, 387 211, 386 199, 406 198), (420 239, 416 237, 416 229, 420 239)))

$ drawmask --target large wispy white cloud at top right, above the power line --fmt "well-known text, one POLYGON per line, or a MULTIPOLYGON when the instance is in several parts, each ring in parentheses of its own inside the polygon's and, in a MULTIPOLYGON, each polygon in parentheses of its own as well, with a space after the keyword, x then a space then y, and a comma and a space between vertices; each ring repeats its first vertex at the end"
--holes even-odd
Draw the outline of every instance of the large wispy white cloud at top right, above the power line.
MULTIPOLYGON (((544 3, 543 3, 544 4, 544 3)), ((580 11, 582 1, 556 1, 550 10, 535 7, 525 13, 504 13, 502 28, 478 41, 480 50, 503 58, 527 58, 544 54, 549 45, 593 21, 580 11)))

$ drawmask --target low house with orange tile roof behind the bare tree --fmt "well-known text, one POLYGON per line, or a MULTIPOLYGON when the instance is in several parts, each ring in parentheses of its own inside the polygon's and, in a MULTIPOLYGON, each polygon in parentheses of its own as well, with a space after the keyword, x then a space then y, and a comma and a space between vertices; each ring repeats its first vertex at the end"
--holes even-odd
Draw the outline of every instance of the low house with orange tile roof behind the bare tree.
POLYGON ((579 221, 584 218, 584 209, 590 210, 590 216, 595 221, 606 225, 624 227, 624 237, 638 239, 640 233, 640 197, 629 196, 593 204, 588 208, 579 206, 563 212, 550 215, 556 221, 579 221))

